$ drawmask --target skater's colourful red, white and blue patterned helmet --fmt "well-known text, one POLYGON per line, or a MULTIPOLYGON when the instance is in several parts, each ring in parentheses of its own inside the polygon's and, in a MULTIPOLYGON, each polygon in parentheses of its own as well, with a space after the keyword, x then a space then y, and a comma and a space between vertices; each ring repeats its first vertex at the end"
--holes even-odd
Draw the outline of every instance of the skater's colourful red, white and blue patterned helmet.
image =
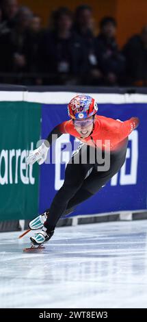
POLYGON ((77 95, 68 104, 68 114, 71 119, 87 119, 96 114, 97 110, 98 106, 95 99, 92 99, 89 95, 77 95))

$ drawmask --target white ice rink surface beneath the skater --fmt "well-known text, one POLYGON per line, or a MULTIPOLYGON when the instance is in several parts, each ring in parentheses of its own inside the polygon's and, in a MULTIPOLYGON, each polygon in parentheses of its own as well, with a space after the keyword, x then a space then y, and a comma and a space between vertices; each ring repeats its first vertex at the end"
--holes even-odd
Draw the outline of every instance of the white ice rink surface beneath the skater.
POLYGON ((147 308, 147 221, 57 228, 38 253, 19 234, 0 234, 1 308, 147 308))

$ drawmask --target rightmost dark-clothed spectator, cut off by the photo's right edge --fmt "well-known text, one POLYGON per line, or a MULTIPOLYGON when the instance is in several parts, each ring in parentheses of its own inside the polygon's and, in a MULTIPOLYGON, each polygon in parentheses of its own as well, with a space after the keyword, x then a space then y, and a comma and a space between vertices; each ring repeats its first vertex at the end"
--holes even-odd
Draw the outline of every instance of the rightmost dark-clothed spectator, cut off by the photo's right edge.
POLYGON ((147 25, 124 46, 127 85, 147 86, 147 25))

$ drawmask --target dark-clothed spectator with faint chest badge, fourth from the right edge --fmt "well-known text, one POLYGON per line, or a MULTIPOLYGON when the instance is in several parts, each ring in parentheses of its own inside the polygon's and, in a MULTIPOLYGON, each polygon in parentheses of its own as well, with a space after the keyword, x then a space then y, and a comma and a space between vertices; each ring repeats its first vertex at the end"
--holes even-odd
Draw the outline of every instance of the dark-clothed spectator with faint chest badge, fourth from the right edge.
POLYGON ((44 84, 78 84, 85 71, 85 50, 72 32, 72 14, 59 8, 52 21, 53 29, 44 32, 39 47, 40 72, 50 74, 44 84))

